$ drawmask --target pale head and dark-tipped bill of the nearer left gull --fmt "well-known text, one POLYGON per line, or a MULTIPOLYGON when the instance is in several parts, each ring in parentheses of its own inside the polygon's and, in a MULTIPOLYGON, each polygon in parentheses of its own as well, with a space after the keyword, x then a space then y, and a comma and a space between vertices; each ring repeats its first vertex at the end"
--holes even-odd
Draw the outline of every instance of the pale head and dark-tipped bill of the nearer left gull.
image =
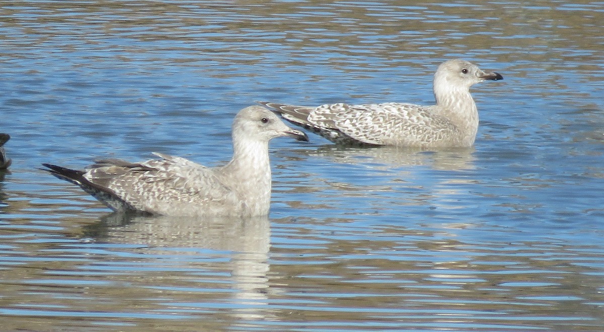
POLYGON ((262 106, 249 106, 237 113, 233 121, 233 138, 268 142, 278 136, 289 136, 308 142, 301 130, 286 126, 275 113, 262 106))

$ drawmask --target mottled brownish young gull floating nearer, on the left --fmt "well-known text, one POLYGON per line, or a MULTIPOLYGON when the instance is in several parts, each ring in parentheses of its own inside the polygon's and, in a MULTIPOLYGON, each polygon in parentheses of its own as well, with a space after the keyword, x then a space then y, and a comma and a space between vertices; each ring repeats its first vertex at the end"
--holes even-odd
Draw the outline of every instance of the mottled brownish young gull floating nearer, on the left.
POLYGON ((261 106, 241 110, 233 121, 233 159, 207 168, 184 158, 127 162, 104 159, 85 171, 42 164, 59 179, 79 185, 115 211, 161 215, 266 215, 271 201, 268 142, 278 136, 308 141, 261 106))

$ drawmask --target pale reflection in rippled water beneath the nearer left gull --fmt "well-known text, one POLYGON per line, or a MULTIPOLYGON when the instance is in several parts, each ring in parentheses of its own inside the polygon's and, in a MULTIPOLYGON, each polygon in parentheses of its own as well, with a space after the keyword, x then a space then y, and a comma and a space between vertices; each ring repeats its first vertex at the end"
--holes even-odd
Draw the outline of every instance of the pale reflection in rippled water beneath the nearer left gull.
MULTIPOLYGON (((187 287, 205 289, 230 284, 234 292, 219 293, 231 296, 234 317, 266 319, 268 315, 265 307, 271 229, 266 216, 196 218, 113 213, 85 226, 83 236, 150 248, 147 267, 153 269, 157 265, 158 271, 146 276, 145 287, 178 287, 174 283, 187 283, 187 287), (162 255, 165 260, 161 260, 162 255), (175 256, 178 260, 173 259, 175 256), (174 270, 184 270, 193 279, 187 275, 175 279, 174 270), (213 274, 224 279, 214 280, 214 286, 199 284, 203 283, 201 275, 213 274), (191 286, 191 282, 199 285, 191 286)), ((137 259, 141 257, 144 255, 137 259)))

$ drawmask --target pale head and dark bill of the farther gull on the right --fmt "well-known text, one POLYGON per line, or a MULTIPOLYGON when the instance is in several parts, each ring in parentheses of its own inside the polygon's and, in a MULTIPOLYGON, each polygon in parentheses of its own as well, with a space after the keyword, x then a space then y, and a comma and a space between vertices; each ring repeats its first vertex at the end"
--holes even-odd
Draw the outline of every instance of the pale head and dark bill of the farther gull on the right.
POLYGON ((469 89, 472 85, 481 81, 503 80, 503 76, 497 72, 486 72, 478 68, 474 63, 466 60, 454 59, 440 64, 434 74, 434 91, 439 87, 450 87, 452 89, 469 89))

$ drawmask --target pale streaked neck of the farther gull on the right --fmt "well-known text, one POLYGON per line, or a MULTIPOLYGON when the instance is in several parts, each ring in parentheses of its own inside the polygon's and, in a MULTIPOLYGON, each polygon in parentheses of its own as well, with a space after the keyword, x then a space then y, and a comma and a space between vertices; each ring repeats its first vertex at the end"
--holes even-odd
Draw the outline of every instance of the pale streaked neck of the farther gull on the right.
POLYGON ((434 80, 434 98, 437 112, 457 126, 462 137, 460 141, 474 144, 478 131, 478 109, 467 86, 456 86, 448 82, 434 80))

